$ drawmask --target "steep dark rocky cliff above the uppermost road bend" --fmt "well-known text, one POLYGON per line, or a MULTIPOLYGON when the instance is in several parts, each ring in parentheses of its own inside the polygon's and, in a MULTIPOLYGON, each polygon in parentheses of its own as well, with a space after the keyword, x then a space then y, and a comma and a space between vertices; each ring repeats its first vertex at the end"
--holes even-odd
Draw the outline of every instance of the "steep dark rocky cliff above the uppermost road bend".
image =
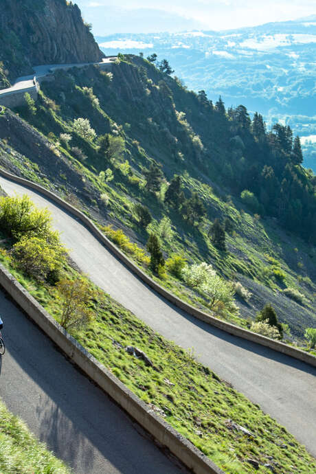
POLYGON ((0 89, 42 64, 97 62, 100 52, 77 5, 66 0, 1 0, 0 89))

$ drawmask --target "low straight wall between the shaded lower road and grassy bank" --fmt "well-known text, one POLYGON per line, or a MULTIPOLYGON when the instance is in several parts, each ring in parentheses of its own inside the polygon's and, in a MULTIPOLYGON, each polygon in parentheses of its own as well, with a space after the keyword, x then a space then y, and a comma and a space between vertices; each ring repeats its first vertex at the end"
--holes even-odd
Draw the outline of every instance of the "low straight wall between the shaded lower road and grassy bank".
MULTIPOLYGON (((155 440, 196 474, 223 474, 199 449, 159 418, 146 403, 116 379, 109 370, 71 337, 0 264, 0 285, 56 345, 104 392, 109 394, 155 440)), ((1 361, 0 361, 1 363, 1 361)))

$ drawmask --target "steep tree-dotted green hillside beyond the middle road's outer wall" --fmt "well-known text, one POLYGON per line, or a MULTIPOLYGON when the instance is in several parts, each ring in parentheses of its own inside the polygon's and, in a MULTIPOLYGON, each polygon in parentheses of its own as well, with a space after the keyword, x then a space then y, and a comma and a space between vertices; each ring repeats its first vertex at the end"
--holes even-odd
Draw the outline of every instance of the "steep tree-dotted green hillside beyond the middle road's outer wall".
POLYGON ((172 291, 242 326, 268 302, 295 337, 315 326, 315 176, 300 165, 291 129, 268 132, 260 115, 251 122, 243 106, 214 106, 135 56, 121 57, 112 73, 58 71, 42 84, 35 109, 19 113, 41 133, 0 115, 2 166, 55 185, 142 246, 154 232, 165 257, 212 263, 251 295, 238 289, 244 320, 168 271, 159 278, 172 291), (92 131, 75 122, 80 117, 92 131), (174 174, 181 186, 166 199, 174 174), (149 225, 135 203, 148 207, 149 225), (225 223, 226 251, 214 240, 216 218, 225 223))

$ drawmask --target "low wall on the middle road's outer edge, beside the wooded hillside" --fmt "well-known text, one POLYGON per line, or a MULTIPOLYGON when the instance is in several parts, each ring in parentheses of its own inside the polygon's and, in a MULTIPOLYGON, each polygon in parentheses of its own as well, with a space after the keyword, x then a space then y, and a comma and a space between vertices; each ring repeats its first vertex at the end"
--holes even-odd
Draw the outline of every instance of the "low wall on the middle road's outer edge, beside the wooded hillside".
POLYGON ((14 174, 10 174, 9 172, 2 170, 1 168, 0 174, 5 178, 10 179, 11 181, 15 181, 16 183, 20 183, 21 185, 24 185, 27 188, 31 188, 38 192, 41 192, 41 194, 47 196, 49 199, 52 199, 52 201, 56 202, 58 205, 60 205, 60 207, 63 207, 63 209, 80 218, 80 221, 82 221, 82 223, 84 223, 84 225, 88 227, 91 233, 96 238, 98 238, 98 240, 100 240, 100 242, 102 242, 102 244, 104 244, 104 246, 108 248, 122 263, 124 263, 126 267, 131 269, 131 271, 133 271, 135 275, 139 276, 139 278, 141 278, 143 282, 148 284, 148 286, 150 286, 150 288, 152 288, 153 290, 157 291, 159 295, 166 298, 166 300, 174 304, 174 306, 181 308, 189 315, 192 315, 197 319, 200 319, 201 321, 210 324, 211 326, 219 328, 225 332, 229 332, 229 334, 232 334, 237 337, 242 337, 242 339, 247 339, 248 341, 258 343, 261 346, 266 346, 270 349, 282 352, 282 354, 294 357, 295 359, 306 362, 316 367, 316 357, 311 354, 308 354, 308 352, 293 348, 280 341, 275 341, 273 339, 269 339, 268 337, 261 336, 259 334, 256 334, 256 332, 251 332, 247 329, 239 328, 238 326, 227 323, 226 321, 221 321, 221 319, 217 319, 216 317, 210 316, 207 313, 204 313, 203 311, 194 308, 190 304, 183 302, 177 296, 173 295, 168 290, 160 286, 158 283, 154 282, 152 278, 150 278, 148 275, 146 275, 146 273, 139 269, 139 267, 137 267, 135 263, 129 260, 129 258, 127 258, 124 253, 122 253, 108 238, 106 238, 106 236, 104 236, 102 232, 100 232, 98 227, 96 227, 90 221, 90 219, 87 218, 87 216, 85 216, 82 212, 76 209, 76 207, 73 207, 66 201, 63 201, 63 199, 61 199, 60 197, 56 196, 56 194, 54 194, 53 192, 46 190, 45 188, 43 188, 43 186, 33 183, 32 181, 17 177, 14 174))

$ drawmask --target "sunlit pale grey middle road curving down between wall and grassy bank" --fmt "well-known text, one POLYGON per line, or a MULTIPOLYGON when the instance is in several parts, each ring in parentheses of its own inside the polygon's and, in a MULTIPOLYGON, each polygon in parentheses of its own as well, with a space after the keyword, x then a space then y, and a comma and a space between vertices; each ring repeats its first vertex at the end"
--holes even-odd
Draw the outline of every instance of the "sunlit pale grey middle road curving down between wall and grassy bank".
POLYGON ((227 334, 172 306, 142 283, 75 218, 40 194, 0 177, 8 193, 28 194, 52 212, 71 258, 115 300, 258 403, 316 457, 316 368, 227 334))

